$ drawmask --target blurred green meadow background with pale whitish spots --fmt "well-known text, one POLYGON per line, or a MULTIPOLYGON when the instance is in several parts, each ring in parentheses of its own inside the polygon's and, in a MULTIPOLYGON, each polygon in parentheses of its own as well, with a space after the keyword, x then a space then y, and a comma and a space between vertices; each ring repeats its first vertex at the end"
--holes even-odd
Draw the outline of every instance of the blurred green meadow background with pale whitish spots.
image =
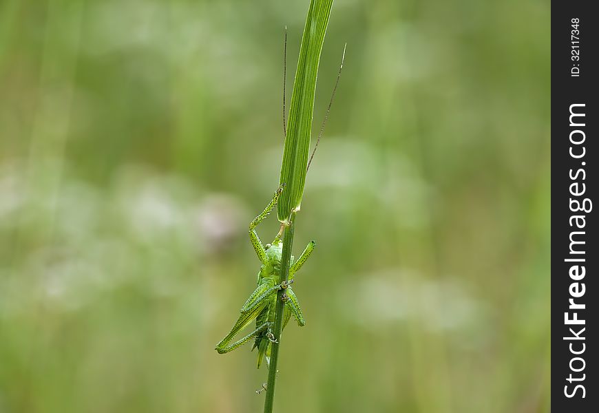
MULTIPOLYGON (((251 346, 213 349, 307 8, 0 1, 0 412, 262 411, 251 346)), ((549 15, 335 2, 275 410, 549 411, 549 15)))

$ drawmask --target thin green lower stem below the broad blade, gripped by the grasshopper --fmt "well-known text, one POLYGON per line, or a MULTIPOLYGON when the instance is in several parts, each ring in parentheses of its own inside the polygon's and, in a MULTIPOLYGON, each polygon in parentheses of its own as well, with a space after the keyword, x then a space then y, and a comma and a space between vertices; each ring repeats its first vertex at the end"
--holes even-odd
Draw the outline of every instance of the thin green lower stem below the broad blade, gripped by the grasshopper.
MULTIPOLYGON (((285 226, 283 233, 283 252, 281 256, 281 279, 287 282, 289 277, 289 263, 291 262, 291 247, 293 246, 293 229, 295 227, 295 212, 291 213, 291 220, 285 226)), ((281 345, 281 333, 283 330, 284 301, 283 294, 285 290, 277 292, 277 308, 275 315, 275 328, 273 334, 277 342, 272 344, 271 362, 269 366, 269 379, 266 382, 266 400, 264 401, 264 413, 273 412, 273 402, 275 399, 275 381, 277 379, 277 361, 279 359, 279 346, 281 345)))

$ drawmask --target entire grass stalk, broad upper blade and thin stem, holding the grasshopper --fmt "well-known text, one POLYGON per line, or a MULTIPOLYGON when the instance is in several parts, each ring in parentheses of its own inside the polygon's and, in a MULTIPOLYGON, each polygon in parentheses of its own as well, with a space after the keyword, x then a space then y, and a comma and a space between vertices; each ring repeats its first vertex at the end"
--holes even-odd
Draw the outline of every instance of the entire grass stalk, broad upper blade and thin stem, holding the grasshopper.
MULTIPOLYGON (((300 211, 304 184, 306 183, 318 64, 332 6, 333 0, 310 1, 304 34, 302 35, 302 45, 300 46, 300 57, 297 59, 297 70, 293 81, 293 93, 291 94, 289 121, 279 181, 280 184, 285 185, 285 188, 277 204, 277 217, 285 225, 281 258, 281 281, 284 282, 287 282, 289 275, 295 215, 297 211, 300 211)), ((277 360, 283 328, 283 294, 284 290, 277 292, 274 334, 278 342, 273 343, 272 348, 264 413, 273 411, 277 360)))

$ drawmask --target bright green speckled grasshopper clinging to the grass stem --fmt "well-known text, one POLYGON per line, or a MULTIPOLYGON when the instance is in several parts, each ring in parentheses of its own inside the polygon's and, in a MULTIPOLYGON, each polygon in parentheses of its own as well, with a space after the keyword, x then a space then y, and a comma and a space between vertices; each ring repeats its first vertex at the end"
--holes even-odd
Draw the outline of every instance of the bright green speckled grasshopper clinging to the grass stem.
MULTIPOLYGON (((271 244, 266 244, 265 246, 262 245, 260 237, 258 237, 258 233, 255 231, 256 226, 258 226, 258 224, 260 224, 260 222, 262 222, 275 207, 282 191, 283 186, 277 189, 273 196, 273 200, 271 200, 264 211, 254 218, 249 225, 251 243, 258 255, 258 259, 262 262, 260 272, 258 273, 258 287, 242 306, 241 315, 235 323, 235 326, 231 329, 231 332, 216 345, 216 351, 220 354, 224 354, 243 346, 255 337, 252 350, 258 348, 258 368, 260 368, 264 357, 266 357, 266 364, 269 364, 271 343, 276 342, 272 328, 275 324, 275 308, 278 290, 285 290, 283 295, 283 300, 285 301, 283 328, 287 325, 291 315, 295 317, 298 326, 302 327, 306 324, 306 320, 302 314, 302 308, 300 308, 300 303, 297 301, 297 297, 291 289, 291 284, 293 284, 295 273, 300 271, 300 268, 302 268, 306 260, 308 260, 316 243, 314 241, 308 242, 304 252, 302 252, 302 255, 300 255, 297 261, 295 261, 295 257, 291 255, 288 282, 285 282, 281 279, 281 255, 283 249, 283 243, 281 242, 282 231, 279 231, 271 244), (254 319, 256 321, 256 329, 242 339, 231 343, 233 337, 251 324, 254 319)), ((283 229, 283 226, 281 226, 281 229, 283 229)))

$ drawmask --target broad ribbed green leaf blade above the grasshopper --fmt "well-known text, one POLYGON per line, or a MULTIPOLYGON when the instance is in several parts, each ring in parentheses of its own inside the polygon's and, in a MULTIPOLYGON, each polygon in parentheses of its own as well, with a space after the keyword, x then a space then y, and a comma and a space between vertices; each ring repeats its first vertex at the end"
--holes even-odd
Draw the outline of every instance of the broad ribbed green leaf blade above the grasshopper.
POLYGON ((297 59, 293 81, 281 165, 280 184, 285 184, 277 204, 277 217, 281 222, 288 221, 291 211, 298 210, 302 202, 310 151, 318 63, 331 6, 333 0, 311 0, 306 17, 300 57, 297 59))

